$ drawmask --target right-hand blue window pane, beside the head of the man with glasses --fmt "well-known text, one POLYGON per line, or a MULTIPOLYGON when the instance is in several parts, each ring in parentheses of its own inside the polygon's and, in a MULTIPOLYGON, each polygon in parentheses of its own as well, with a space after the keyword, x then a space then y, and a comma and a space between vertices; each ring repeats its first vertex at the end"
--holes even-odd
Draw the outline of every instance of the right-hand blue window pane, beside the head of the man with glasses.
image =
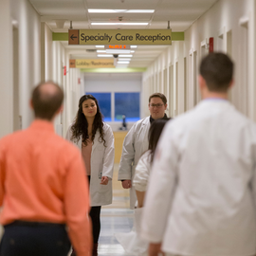
POLYGON ((115 121, 139 120, 139 93, 115 93, 115 121))

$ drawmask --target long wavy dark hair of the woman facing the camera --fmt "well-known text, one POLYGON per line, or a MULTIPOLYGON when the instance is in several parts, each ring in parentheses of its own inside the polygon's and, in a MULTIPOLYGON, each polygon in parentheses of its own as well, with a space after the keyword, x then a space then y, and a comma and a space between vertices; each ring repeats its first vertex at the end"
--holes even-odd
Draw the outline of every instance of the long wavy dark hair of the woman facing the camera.
POLYGON ((71 140, 78 141, 80 137, 82 136, 82 142, 87 145, 87 139, 89 138, 88 135, 88 122, 87 119, 84 117, 82 113, 82 103, 86 100, 93 100, 95 101, 97 105, 97 113, 95 115, 94 121, 93 121, 93 127, 92 127, 92 141, 94 140, 94 137, 96 135, 97 130, 100 131, 100 137, 99 141, 104 143, 104 146, 106 141, 104 139, 104 132, 103 132, 103 120, 102 120, 102 114, 101 109, 99 106, 98 101, 90 94, 83 95, 79 101, 79 110, 75 119, 74 124, 71 126, 72 131, 72 137, 71 140))

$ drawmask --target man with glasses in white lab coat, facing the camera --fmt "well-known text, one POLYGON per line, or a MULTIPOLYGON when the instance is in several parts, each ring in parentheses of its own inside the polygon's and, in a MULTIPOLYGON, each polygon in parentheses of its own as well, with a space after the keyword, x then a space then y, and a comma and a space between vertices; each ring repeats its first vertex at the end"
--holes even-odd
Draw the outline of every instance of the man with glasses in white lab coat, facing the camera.
POLYGON ((165 114, 166 108, 167 100, 163 94, 155 93, 151 95, 149 98, 149 111, 151 115, 145 119, 138 120, 124 138, 119 164, 119 180, 122 183, 123 189, 131 189, 131 209, 135 208, 137 201, 136 192, 132 186, 137 161, 139 157, 148 150, 148 133, 151 123, 155 119, 167 119, 165 114))

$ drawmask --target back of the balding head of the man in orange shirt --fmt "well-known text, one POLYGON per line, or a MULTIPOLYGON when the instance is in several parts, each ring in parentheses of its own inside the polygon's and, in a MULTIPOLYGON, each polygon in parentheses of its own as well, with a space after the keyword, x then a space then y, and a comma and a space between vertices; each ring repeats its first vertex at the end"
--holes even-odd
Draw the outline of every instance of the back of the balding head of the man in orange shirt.
POLYGON ((34 88, 31 101, 36 118, 51 120, 64 101, 64 92, 55 82, 41 82, 34 88))

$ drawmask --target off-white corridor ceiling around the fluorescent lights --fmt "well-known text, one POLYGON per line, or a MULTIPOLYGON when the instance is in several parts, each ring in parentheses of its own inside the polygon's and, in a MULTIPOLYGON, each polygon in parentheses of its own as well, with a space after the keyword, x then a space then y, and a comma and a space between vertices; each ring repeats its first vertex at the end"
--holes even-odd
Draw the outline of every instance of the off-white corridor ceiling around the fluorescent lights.
MULTIPOLYGON (((167 28, 185 31, 218 0, 29 0, 53 32, 67 32, 70 21, 74 29, 86 28, 167 28), (87 9, 155 9, 154 13, 89 13, 87 9), (121 17, 121 18, 119 18, 121 17), (91 22, 148 22, 146 26, 99 26, 91 22), (55 20, 65 20, 64 28, 57 28, 55 20)), ((68 46, 72 59, 95 59, 95 46, 68 46)), ((167 46, 137 46, 128 67, 147 67, 167 46)))

